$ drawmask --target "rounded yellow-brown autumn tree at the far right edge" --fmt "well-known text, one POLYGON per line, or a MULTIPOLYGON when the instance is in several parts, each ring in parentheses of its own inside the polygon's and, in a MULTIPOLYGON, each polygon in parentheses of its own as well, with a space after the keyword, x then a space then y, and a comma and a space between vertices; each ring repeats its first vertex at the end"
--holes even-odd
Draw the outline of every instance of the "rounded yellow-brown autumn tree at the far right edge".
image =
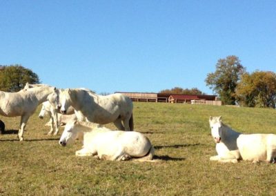
POLYGON ((243 106, 275 108, 276 74, 257 70, 251 75, 242 75, 237 85, 236 97, 243 106))

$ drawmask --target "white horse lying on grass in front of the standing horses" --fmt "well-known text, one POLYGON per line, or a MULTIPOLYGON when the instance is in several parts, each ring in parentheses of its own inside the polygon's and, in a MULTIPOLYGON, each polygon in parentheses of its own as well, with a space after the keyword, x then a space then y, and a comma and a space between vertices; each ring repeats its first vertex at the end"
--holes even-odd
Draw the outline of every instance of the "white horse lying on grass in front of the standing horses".
POLYGON ((59 139, 66 146, 83 133, 83 148, 77 156, 97 155, 99 159, 123 161, 134 158, 137 161, 151 161, 155 148, 148 137, 135 131, 110 130, 98 124, 83 121, 70 121, 66 124, 59 139))

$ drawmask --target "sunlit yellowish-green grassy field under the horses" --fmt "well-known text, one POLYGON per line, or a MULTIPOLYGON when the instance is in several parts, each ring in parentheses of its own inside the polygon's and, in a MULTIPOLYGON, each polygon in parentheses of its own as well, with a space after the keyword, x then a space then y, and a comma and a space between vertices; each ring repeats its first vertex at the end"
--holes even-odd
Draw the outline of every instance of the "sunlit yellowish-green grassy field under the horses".
MULTIPOLYGON (((158 163, 75 157, 79 141, 61 147, 37 113, 17 140, 19 118, 1 119, 0 195, 275 195, 276 165, 219 164, 210 115, 243 133, 276 133, 276 111, 227 106, 135 103, 135 130, 155 146, 158 163)), ((114 128, 112 125, 108 127, 114 128)), ((62 130, 62 129, 61 129, 62 130)))

